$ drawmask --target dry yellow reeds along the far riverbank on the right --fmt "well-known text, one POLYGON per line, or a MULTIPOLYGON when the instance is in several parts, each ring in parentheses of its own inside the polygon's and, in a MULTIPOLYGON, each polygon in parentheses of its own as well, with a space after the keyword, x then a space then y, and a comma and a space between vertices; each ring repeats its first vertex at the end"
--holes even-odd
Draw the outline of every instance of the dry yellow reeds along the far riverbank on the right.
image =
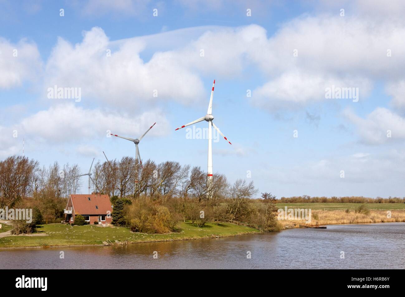
MULTIPOLYGON (((320 225, 354 224, 354 223, 382 223, 382 222, 405 222, 405 211, 391 211, 391 217, 387 217, 387 211, 370 211, 369 214, 355 213, 350 211, 311 211, 311 223, 317 221, 320 225)), ((294 227, 292 221, 305 223, 305 220, 281 220, 284 228, 294 227)))

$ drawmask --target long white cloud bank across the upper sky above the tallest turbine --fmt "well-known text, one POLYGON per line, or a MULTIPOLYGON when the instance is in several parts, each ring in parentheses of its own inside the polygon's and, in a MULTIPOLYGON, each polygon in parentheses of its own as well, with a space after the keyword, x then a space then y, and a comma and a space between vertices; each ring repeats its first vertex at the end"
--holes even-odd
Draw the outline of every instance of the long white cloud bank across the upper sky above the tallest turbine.
POLYGON ((302 17, 283 24, 270 38, 258 25, 203 29, 111 42, 94 27, 74 46, 59 38, 47 62, 44 92, 57 84, 81 87, 85 101, 119 106, 161 100, 187 104, 207 93, 200 76, 242 77, 256 65, 267 82, 256 88, 252 103, 272 109, 324 100, 325 87, 331 85, 359 88, 364 100, 373 80, 397 79, 405 67, 405 44, 399 38, 405 27, 391 23, 374 28, 364 19, 302 17), (194 34, 194 41, 178 37, 186 32, 188 40, 194 34), (164 42, 165 50, 159 51, 156 39, 181 40, 181 45, 164 42), (141 53, 147 48, 154 52, 143 61, 141 53), (387 48, 392 57, 387 57, 387 48), (153 97, 154 90, 158 97, 153 97))

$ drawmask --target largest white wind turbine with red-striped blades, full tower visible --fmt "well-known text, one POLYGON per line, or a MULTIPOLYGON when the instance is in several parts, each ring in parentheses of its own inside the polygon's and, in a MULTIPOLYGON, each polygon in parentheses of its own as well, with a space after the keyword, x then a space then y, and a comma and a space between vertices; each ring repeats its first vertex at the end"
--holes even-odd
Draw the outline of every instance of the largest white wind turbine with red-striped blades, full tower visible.
MULTIPOLYGON (((208 110, 207 110, 207 114, 195 121, 192 121, 188 124, 185 124, 179 128, 177 128, 176 130, 179 130, 181 128, 190 126, 192 124, 196 124, 198 122, 201 122, 203 120, 208 122, 208 170, 207 170, 207 183, 208 183, 208 190, 209 193, 211 192, 211 187, 212 187, 212 180, 213 180, 213 173, 212 173, 212 126, 214 126, 214 128, 218 131, 218 133, 220 133, 222 135, 222 137, 224 137, 224 139, 226 141, 228 141, 229 144, 230 141, 225 137, 224 134, 222 134, 222 132, 220 131, 220 129, 217 128, 217 126, 215 126, 215 124, 213 123, 213 115, 212 115, 212 97, 214 95, 214 86, 215 86, 215 80, 214 83, 212 84, 212 91, 211 91, 211 98, 209 99, 209 105, 208 105, 208 110)), ((211 194, 209 194, 211 196, 211 194)))

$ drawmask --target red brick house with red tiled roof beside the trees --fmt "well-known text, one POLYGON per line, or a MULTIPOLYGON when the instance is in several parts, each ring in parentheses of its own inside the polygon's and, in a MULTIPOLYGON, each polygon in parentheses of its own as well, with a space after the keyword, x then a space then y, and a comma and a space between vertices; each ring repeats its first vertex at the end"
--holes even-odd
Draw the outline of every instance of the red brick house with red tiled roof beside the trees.
POLYGON ((66 223, 73 223, 76 215, 82 215, 90 224, 94 222, 109 224, 112 213, 113 207, 109 196, 94 192, 91 195, 70 194, 64 209, 66 223))

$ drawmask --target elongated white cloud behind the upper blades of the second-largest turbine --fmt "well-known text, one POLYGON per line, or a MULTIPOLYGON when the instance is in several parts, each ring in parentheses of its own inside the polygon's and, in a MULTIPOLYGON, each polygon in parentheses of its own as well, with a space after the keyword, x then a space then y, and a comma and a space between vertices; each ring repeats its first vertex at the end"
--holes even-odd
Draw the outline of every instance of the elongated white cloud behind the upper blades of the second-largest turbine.
POLYGON ((107 131, 136 138, 154 122, 157 122, 155 129, 152 129, 148 136, 162 136, 168 133, 168 121, 160 110, 133 116, 66 104, 53 106, 28 116, 18 126, 20 134, 24 133, 36 141, 75 143, 109 137, 107 131))

